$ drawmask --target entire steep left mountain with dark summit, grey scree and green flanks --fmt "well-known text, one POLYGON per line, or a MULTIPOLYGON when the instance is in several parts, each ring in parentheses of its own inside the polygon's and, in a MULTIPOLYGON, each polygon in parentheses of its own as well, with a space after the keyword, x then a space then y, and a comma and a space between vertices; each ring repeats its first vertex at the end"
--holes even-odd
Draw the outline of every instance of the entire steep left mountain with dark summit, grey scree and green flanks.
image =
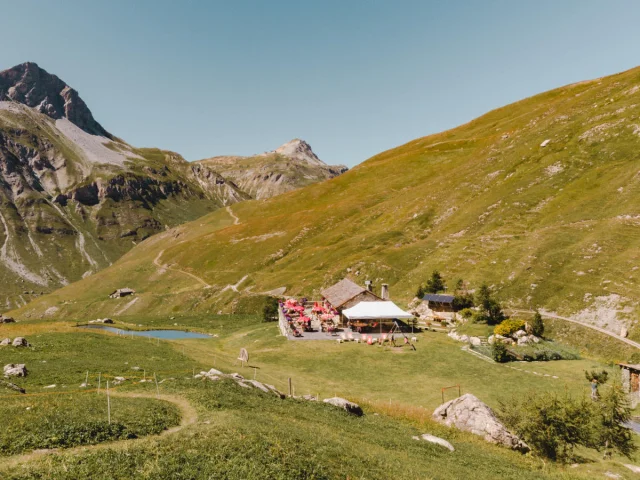
POLYGON ((0 309, 247 198, 206 165, 114 137, 78 92, 36 64, 0 72, 0 309))

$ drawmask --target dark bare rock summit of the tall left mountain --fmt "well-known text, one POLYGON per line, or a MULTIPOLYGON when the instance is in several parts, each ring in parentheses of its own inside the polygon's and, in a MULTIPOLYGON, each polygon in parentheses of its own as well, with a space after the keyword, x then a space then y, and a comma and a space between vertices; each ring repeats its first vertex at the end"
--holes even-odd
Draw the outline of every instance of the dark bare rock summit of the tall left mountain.
POLYGON ((22 103, 54 120, 66 118, 87 133, 112 138, 76 90, 33 62, 0 72, 0 101, 22 103))

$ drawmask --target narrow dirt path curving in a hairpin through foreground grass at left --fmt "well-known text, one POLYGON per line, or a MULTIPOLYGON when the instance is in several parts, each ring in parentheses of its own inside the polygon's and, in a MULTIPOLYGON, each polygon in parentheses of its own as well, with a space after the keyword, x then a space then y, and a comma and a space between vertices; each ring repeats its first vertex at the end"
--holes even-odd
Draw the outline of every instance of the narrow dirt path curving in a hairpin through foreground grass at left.
POLYGON ((157 435, 147 435, 145 437, 134 438, 131 440, 116 440, 113 442, 105 442, 99 443, 97 445, 83 445, 79 447, 72 448, 51 448, 51 449, 41 449, 34 450, 33 452, 21 454, 21 455, 13 455, 11 457, 6 457, 4 459, 0 458, 0 472, 3 469, 10 469, 22 463, 30 462, 32 460, 37 460, 46 455, 53 455, 58 453, 84 453, 93 450, 100 450, 104 448, 114 448, 114 447, 124 447, 135 445, 136 442, 140 442, 147 438, 159 438, 164 437, 166 435, 171 435, 173 433, 179 432, 180 430, 188 427, 189 425, 193 425, 198 421, 198 413, 196 409, 191 405, 185 398, 177 396, 177 395, 159 395, 156 396, 152 393, 134 393, 134 392, 111 392, 111 396, 113 397, 127 397, 127 398, 157 398, 158 400, 164 400, 166 402, 173 403, 180 410, 180 423, 175 427, 168 428, 167 430, 163 430, 157 435))

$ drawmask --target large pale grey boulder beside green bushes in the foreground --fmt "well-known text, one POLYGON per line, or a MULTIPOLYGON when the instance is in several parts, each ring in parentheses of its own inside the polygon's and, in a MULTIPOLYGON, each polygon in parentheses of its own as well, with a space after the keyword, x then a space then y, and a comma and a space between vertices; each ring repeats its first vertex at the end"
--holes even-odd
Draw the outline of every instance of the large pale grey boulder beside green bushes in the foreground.
POLYGON ((440 405, 433 412, 433 418, 450 427, 480 435, 488 442, 521 452, 529 451, 529 446, 510 433, 488 405, 470 393, 440 405))

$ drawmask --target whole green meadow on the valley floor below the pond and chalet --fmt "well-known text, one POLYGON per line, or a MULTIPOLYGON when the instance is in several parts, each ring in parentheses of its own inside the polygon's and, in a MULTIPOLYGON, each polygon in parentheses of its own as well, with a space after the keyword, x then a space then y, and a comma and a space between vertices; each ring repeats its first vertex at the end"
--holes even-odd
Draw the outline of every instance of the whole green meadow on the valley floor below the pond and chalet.
MULTIPOLYGON (((71 322, 0 325, 2 336, 25 335, 32 344, 0 349, 3 364, 26 363, 30 372, 16 380, 27 395, 0 391, 0 415, 13 418, 0 433, 0 477, 593 479, 628 472, 621 463, 629 460, 617 456, 603 462, 585 451, 577 467, 562 467, 430 419, 441 401, 440 388, 456 383, 493 407, 532 391, 579 396, 588 389, 582 369, 605 368, 592 360, 522 366, 535 375, 487 363, 441 333, 420 334, 412 351, 287 342, 277 336, 275 324, 256 316, 127 320, 147 328, 178 324, 218 337, 156 342, 87 332, 71 322), (250 351, 249 367, 235 361, 240 346, 250 351), (360 402, 366 415, 350 417, 323 403, 280 400, 233 382, 192 378, 194 370, 211 366, 255 375, 284 391, 291 377, 297 395, 337 393, 360 402), (86 372, 90 385, 83 389, 86 372), (95 390, 98 373, 102 393, 95 390), (154 373, 158 386, 141 382, 154 373), (109 426, 104 388, 116 376, 127 380, 111 391, 109 426), (51 384, 56 386, 45 388, 51 384), (153 436, 177 423, 173 432, 153 436), (412 439, 421 433, 447 439, 456 451, 412 439), (52 447, 72 450, 33 452, 52 447)), ((454 392, 446 395, 452 398, 454 392)))

